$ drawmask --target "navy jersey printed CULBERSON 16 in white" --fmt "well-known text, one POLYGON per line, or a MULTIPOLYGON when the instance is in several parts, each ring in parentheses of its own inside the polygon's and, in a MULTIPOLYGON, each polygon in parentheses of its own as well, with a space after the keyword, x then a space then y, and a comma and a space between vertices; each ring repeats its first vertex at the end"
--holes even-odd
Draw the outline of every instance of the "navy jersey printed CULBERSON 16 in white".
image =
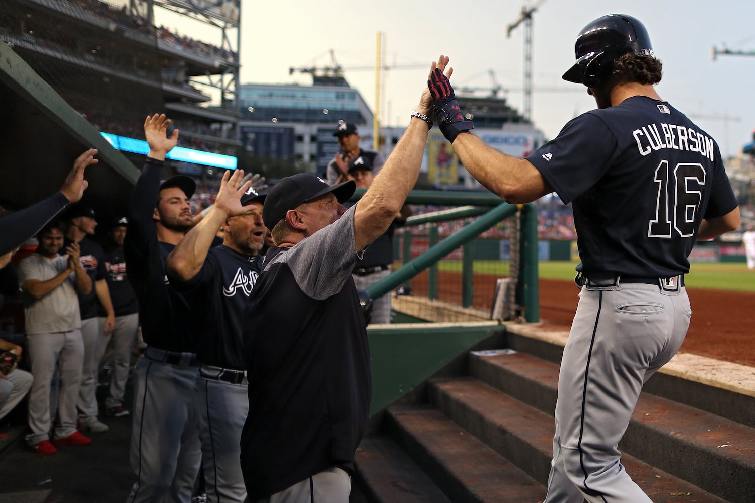
POLYGON ((737 206, 716 142, 649 97, 580 115, 527 159, 572 203, 588 274, 686 273, 701 220, 737 206))

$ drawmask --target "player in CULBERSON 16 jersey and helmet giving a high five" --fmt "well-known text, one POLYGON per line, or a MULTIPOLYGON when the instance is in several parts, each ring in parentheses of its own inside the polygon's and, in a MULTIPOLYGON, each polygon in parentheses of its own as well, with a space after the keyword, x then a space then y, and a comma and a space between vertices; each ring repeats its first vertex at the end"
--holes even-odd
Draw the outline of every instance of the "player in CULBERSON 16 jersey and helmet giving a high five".
POLYGON ((695 240, 737 228, 739 210, 716 143, 655 91, 662 66, 643 23, 599 17, 575 53, 563 78, 584 84, 598 109, 525 159, 468 132, 442 74, 428 85, 444 136, 483 186, 511 203, 555 191, 574 210, 581 292, 559 374, 546 503, 649 503, 618 443, 643 384, 686 335, 695 240))

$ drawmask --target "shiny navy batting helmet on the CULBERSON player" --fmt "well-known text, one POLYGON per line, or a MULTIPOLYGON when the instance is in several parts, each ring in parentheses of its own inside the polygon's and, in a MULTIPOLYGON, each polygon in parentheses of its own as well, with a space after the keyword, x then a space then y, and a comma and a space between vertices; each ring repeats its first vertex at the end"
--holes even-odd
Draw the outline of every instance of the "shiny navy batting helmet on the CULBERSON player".
POLYGON ((609 14, 587 24, 574 44, 577 62, 565 81, 597 87, 611 75, 613 63, 624 54, 655 58, 648 31, 634 17, 609 14))

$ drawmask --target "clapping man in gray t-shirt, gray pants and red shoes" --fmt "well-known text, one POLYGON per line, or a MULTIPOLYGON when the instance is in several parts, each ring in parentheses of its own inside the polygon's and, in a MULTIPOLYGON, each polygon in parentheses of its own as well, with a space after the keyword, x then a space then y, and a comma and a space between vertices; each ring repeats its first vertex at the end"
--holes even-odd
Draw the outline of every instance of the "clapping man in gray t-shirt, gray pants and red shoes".
POLYGON ((39 455, 54 454, 48 438, 51 424, 50 383, 55 366, 60 369, 57 445, 84 446, 91 440, 76 430, 76 397, 82 379, 84 345, 76 292, 85 294, 92 284, 79 263, 79 245, 71 244, 68 255, 58 255, 63 232, 57 222, 48 223, 37 235, 39 247, 21 260, 18 276, 26 315, 26 340, 32 363, 29 393, 29 428, 26 441, 39 455))

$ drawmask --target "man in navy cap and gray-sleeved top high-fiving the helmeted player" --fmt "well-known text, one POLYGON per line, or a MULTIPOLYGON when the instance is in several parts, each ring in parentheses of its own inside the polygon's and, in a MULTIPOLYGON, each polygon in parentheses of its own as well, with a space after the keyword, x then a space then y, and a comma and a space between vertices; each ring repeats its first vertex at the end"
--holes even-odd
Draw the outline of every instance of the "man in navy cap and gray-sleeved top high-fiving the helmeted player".
POLYGON ((417 181, 428 113, 429 91, 349 210, 342 203, 355 182, 328 185, 311 173, 288 176, 267 195, 262 216, 276 246, 242 323, 249 413, 241 463, 249 501, 349 501, 371 400, 367 330, 351 271, 417 181), (260 333, 263 326, 274 336, 260 333))

